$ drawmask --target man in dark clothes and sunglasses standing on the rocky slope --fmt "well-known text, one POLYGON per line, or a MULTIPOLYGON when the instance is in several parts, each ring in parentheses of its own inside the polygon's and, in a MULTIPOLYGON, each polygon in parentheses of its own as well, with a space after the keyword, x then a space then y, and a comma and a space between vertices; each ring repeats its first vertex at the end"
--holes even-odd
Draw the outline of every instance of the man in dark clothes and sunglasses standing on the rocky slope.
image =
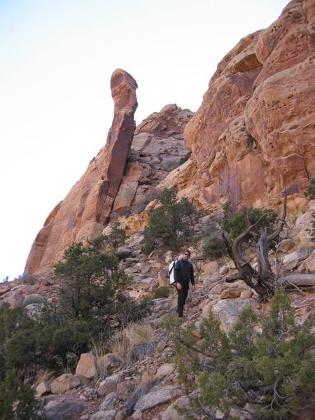
POLYGON ((194 267, 193 264, 188 261, 189 258, 190 251, 189 249, 186 249, 183 253, 183 258, 176 261, 174 267, 174 279, 177 290, 177 314, 179 314, 180 318, 183 316, 183 307, 188 295, 190 281, 193 285, 192 290, 195 290, 194 267))

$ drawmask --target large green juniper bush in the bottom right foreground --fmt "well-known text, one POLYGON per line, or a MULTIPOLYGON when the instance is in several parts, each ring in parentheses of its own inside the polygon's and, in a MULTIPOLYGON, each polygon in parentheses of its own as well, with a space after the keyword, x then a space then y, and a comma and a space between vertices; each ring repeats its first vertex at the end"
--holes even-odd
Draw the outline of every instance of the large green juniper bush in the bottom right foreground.
POLYGON ((218 407, 232 419, 231 407, 244 409, 249 403, 255 419, 298 417, 315 392, 312 321, 296 325, 288 296, 277 290, 261 332, 251 308, 228 335, 212 314, 202 321, 202 339, 193 326, 181 330, 175 338, 176 362, 186 386, 200 388, 200 398, 192 400, 195 414, 213 419, 218 407))

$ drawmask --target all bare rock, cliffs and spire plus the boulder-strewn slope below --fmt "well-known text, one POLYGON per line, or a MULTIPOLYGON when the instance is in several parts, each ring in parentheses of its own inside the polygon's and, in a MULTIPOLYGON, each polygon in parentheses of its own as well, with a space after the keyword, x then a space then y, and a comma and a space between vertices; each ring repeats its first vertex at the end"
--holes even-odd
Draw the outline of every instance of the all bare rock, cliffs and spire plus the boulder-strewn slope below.
MULTIPOLYGON (((315 176, 314 22, 314 1, 290 1, 269 28, 246 36, 228 52, 195 114, 169 104, 135 127, 137 83, 129 73, 116 70, 107 143, 48 216, 29 253, 25 276, 1 283, 0 307, 5 302, 11 308, 24 307, 27 319, 45 302, 57 307, 60 285, 51 274, 52 265, 73 242, 109 235, 117 220, 129 235, 115 250, 119 268, 132 279, 125 293, 137 302, 153 297, 160 286, 168 286, 167 265, 180 255, 164 248, 149 255, 141 250, 149 210, 169 187, 203 210, 194 225, 197 240, 190 246, 197 288, 188 295, 177 331, 191 324, 193 336, 202 342, 203 316, 214 314, 221 330, 230 332, 248 306, 258 316, 260 331, 269 313, 270 303, 262 302, 244 281, 229 282, 237 270, 228 256, 210 260, 204 255, 209 233, 221 237, 226 202, 233 210, 242 204, 279 209, 286 191, 286 223, 276 250, 266 258, 277 278, 290 275, 294 283, 303 276, 304 285, 311 279, 307 284, 314 286, 315 202, 302 194, 315 176), (181 164, 181 158, 186 162, 181 164)), ((255 253, 249 254, 257 267, 255 253)), ((288 295, 295 321, 304 325, 315 314, 314 291, 296 284, 288 295)), ((125 330, 106 342, 106 353, 97 346, 83 353, 71 373, 36 372, 32 386, 38 400, 48 400, 48 420, 186 418, 175 406, 189 409, 200 388, 191 386, 194 375, 188 377, 189 384, 180 380, 181 366, 174 359, 176 331, 162 327, 176 308, 176 290, 170 288, 170 293, 154 300, 153 313, 144 319, 144 341, 137 342, 125 330)), ((219 409, 211 415, 208 418, 226 418, 219 409)), ((232 408, 229 415, 256 418, 250 404, 232 408)), ((299 418, 313 419, 314 406, 299 418)))

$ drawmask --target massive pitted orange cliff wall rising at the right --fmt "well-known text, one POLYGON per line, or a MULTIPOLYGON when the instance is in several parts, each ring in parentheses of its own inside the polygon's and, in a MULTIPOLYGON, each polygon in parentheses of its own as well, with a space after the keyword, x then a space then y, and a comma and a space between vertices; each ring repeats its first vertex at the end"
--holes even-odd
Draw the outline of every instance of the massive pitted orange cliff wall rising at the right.
MULTIPOLYGON (((196 169, 196 204, 289 210, 315 176, 314 1, 291 1, 276 22, 246 36, 218 64, 184 137, 196 169)), ((176 182, 173 180, 173 182, 176 182)))

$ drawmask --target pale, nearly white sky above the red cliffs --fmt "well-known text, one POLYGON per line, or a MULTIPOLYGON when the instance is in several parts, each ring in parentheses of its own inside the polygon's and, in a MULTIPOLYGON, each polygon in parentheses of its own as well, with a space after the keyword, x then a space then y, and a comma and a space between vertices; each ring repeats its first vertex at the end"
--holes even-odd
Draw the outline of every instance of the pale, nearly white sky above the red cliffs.
POLYGON ((0 0, 0 281, 22 274, 53 207, 104 146, 111 73, 137 80, 137 124, 197 111, 218 62, 283 0, 0 0))

